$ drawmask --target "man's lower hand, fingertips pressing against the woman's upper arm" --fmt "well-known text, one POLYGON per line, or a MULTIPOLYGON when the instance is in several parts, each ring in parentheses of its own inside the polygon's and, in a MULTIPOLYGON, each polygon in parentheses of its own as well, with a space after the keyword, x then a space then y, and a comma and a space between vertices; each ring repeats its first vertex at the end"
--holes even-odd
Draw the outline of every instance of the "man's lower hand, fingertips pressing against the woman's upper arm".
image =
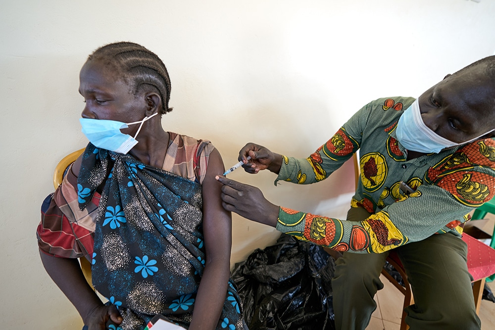
POLYGON ((215 179, 224 185, 221 196, 224 209, 249 220, 277 226, 279 207, 266 200, 261 190, 221 176, 215 179))

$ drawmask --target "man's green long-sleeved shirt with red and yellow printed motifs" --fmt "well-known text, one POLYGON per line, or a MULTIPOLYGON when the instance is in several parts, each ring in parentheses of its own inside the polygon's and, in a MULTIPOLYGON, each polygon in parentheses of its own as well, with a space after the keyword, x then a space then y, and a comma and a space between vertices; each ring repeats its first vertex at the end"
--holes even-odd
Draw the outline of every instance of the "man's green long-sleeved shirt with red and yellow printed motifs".
POLYGON ((381 253, 433 234, 460 236, 468 213, 495 194, 495 140, 479 140, 407 160, 396 126, 410 97, 372 101, 307 159, 283 156, 279 180, 326 179, 359 149, 360 180, 351 207, 372 215, 342 221, 285 207, 277 230, 339 251, 381 253), (412 193, 400 188, 403 182, 412 193))

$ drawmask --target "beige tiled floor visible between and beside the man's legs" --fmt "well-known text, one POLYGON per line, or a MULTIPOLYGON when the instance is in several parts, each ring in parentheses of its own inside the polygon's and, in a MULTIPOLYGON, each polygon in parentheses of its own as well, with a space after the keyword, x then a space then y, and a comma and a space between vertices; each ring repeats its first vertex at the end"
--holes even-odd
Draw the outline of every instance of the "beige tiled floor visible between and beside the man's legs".
MULTIPOLYGON (((375 296, 377 309, 371 316, 371 321, 366 330, 399 330, 404 296, 383 275, 381 280, 384 288, 375 296)), ((489 283, 495 291, 495 283, 489 283)), ((482 330, 495 329, 495 303, 482 300, 480 307, 480 319, 482 330)))

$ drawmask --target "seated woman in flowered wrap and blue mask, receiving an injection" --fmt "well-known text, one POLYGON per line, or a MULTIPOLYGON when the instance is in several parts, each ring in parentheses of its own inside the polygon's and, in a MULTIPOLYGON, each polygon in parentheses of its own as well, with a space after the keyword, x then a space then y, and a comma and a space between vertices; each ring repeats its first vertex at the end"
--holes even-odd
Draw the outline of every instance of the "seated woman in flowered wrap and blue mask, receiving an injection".
POLYGON ((209 141, 162 129, 163 62, 137 44, 106 45, 82 67, 79 93, 90 143, 43 203, 37 236, 85 328, 142 330, 162 314, 188 329, 244 329, 229 281, 231 215, 215 181, 223 162, 209 141), (85 281, 83 256, 110 304, 85 281))

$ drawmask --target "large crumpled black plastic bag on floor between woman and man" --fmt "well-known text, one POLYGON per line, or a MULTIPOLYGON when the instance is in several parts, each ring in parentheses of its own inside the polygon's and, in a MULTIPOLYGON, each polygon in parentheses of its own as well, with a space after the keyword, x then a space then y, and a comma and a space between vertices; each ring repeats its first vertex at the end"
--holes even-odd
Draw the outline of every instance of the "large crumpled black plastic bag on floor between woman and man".
POLYGON ((317 245, 282 234, 237 263, 232 279, 250 330, 334 330, 334 260, 317 245))

